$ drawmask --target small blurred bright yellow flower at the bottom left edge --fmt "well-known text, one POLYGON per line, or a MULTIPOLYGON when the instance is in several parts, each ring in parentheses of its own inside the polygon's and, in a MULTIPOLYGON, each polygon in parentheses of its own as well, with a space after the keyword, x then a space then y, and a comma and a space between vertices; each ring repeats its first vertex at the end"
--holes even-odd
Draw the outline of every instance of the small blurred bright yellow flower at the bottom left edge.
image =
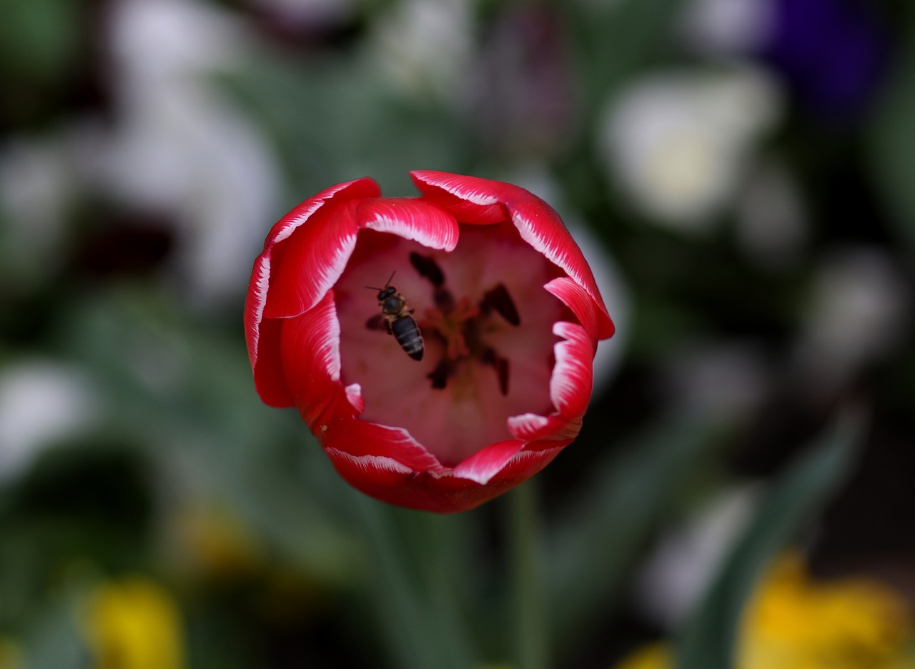
POLYGON ((182 669, 184 639, 178 605, 151 579, 102 584, 92 593, 83 626, 95 669, 182 669))

